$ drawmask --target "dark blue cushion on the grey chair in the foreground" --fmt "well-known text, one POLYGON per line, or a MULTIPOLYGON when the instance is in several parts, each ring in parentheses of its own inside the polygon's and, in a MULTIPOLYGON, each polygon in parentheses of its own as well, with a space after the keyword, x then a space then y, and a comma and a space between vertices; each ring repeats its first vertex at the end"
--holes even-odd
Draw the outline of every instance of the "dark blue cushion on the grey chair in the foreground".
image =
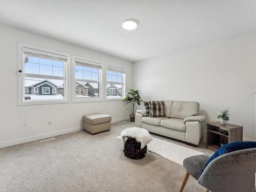
MULTIPOLYGON (((256 148, 256 142, 254 141, 234 141, 231 143, 227 143, 220 147, 214 155, 212 155, 209 160, 206 162, 205 167, 215 158, 224 155, 226 153, 238 151, 238 150, 246 150, 247 148, 256 148)), ((204 168, 205 168, 204 167, 204 168)), ((202 170, 201 174, 203 173, 204 169, 202 170)))

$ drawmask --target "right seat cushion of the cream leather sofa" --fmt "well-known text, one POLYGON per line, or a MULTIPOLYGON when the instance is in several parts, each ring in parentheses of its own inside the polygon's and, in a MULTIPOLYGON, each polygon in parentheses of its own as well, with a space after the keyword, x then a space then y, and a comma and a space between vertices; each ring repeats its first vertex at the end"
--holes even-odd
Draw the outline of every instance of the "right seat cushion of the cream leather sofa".
POLYGON ((186 125, 182 119, 175 119, 175 118, 163 119, 161 120, 160 125, 172 130, 183 131, 183 132, 186 131, 186 125))

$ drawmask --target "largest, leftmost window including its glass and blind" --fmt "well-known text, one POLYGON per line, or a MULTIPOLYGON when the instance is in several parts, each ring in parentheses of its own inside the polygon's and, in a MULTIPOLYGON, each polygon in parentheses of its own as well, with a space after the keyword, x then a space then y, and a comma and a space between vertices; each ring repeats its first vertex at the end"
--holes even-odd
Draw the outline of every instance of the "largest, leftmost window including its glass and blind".
POLYGON ((68 55, 19 44, 19 59, 19 104, 67 102, 68 55))

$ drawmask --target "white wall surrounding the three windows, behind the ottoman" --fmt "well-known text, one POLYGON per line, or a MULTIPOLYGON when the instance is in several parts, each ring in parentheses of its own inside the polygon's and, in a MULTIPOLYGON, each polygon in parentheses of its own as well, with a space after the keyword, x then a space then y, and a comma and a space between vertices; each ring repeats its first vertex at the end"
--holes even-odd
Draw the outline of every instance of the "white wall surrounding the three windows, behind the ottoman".
POLYGON ((18 42, 126 67, 126 90, 133 84, 132 62, 0 25, 0 147, 78 130, 85 114, 106 113, 114 121, 129 117, 131 108, 122 101, 18 106, 18 42), (48 125, 48 119, 52 125, 48 125), (25 122, 28 129, 23 128, 25 122))

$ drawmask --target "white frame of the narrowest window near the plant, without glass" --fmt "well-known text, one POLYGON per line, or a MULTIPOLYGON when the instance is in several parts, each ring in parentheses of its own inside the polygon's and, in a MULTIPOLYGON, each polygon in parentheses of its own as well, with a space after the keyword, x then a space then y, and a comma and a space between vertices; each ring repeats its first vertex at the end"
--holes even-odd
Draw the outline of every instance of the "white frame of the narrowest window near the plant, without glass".
POLYGON ((124 98, 124 94, 125 94, 125 90, 126 90, 126 68, 123 66, 117 66, 117 65, 112 65, 111 63, 106 63, 106 69, 105 69, 105 101, 119 101, 119 100, 123 100, 124 98), (111 71, 111 69, 113 69, 113 71, 119 71, 120 73, 122 73, 122 83, 120 82, 112 82, 112 81, 108 81, 107 79, 107 74, 108 74, 108 70, 111 71), (108 84, 121 84, 122 85, 122 97, 121 98, 108 98, 108 96, 106 95, 106 86, 108 84))

